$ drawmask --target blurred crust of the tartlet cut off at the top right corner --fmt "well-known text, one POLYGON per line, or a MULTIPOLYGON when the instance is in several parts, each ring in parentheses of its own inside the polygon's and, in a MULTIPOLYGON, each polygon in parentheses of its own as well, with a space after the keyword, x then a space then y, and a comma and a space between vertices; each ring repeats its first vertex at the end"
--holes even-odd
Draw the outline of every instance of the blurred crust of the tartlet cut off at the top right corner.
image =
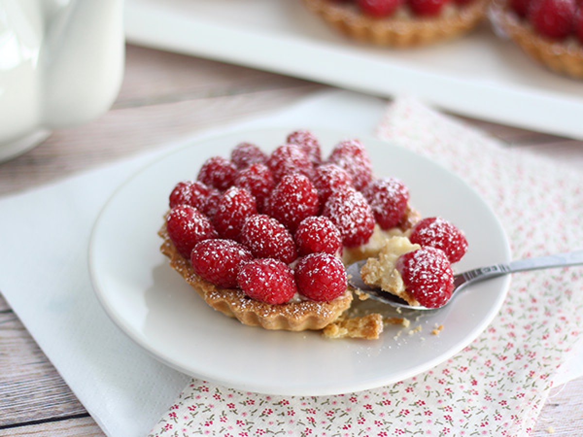
POLYGON ((521 20, 507 2, 497 0, 491 6, 494 26, 501 27, 529 57, 556 73, 583 79, 583 45, 576 41, 553 41, 536 34, 521 20))

